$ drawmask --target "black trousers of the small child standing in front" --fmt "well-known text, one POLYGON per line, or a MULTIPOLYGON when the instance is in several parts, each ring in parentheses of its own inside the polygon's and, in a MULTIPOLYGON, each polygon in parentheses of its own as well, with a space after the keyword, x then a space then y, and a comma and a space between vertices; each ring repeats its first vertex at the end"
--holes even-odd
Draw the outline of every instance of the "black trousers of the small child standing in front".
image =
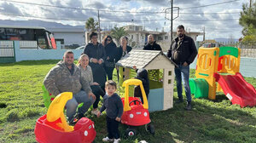
POLYGON ((107 128, 108 128, 108 138, 109 139, 119 139, 119 122, 115 118, 110 118, 107 116, 107 128))

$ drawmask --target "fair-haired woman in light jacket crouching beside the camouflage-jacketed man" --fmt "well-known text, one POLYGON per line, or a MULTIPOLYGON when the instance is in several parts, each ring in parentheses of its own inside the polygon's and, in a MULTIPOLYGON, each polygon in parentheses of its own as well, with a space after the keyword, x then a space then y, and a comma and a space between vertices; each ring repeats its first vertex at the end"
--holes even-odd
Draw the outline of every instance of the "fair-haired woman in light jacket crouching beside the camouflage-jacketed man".
POLYGON ((99 83, 93 82, 93 76, 92 71, 89 64, 89 57, 87 54, 82 54, 79 57, 78 67, 81 70, 81 76, 82 79, 86 80, 88 83, 90 83, 90 89, 92 90, 92 93, 96 95, 96 100, 93 103, 93 110, 91 111, 92 114, 97 114, 98 110, 98 103, 100 101, 101 95, 104 96, 104 91, 99 86, 99 83))

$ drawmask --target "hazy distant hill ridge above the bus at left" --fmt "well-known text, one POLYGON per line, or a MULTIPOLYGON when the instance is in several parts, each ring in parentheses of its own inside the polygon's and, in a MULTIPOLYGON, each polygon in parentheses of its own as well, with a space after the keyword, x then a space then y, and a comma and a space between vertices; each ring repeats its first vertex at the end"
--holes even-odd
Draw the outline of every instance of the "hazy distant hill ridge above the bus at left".
POLYGON ((43 26, 47 28, 84 28, 84 26, 63 25, 56 22, 42 20, 0 20, 0 25, 4 26, 43 26))

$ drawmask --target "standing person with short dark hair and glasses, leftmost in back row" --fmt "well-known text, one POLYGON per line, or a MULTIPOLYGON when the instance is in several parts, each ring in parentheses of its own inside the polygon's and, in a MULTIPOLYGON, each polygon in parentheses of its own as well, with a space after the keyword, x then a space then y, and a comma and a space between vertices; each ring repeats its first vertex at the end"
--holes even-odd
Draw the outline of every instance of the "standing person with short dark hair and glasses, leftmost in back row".
POLYGON ((94 82, 99 83, 105 91, 106 72, 103 68, 103 62, 106 60, 106 53, 102 43, 97 42, 98 35, 92 31, 90 33, 90 43, 85 46, 84 54, 90 58, 89 66, 93 74, 94 82))

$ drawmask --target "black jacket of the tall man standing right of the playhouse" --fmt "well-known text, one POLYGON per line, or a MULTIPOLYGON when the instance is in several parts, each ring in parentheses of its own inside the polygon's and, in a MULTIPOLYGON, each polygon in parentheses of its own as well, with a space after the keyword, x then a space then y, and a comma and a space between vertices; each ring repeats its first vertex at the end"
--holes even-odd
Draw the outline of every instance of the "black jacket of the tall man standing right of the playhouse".
POLYGON ((177 47, 178 37, 172 40, 167 56, 171 58, 177 65, 183 64, 185 61, 191 64, 195 60, 197 50, 194 40, 191 37, 184 36, 182 43, 177 47))

